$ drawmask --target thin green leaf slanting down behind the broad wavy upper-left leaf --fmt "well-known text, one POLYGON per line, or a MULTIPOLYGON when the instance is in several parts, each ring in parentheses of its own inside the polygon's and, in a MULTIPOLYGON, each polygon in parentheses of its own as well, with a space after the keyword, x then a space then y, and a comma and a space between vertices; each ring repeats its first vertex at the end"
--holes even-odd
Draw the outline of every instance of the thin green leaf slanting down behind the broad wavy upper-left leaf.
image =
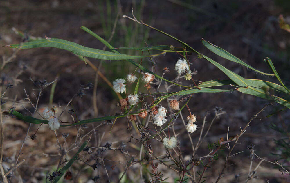
MULTIPOLYGON (((93 31, 91 31, 90 29, 88 29, 87 27, 84 27, 84 26, 81 26, 81 29, 83 29, 84 31, 86 31, 87 33, 93 35, 95 38, 97 38, 100 42, 102 42, 104 45, 106 45, 109 49, 111 49, 113 52, 115 53, 119 53, 117 50, 115 50, 115 48, 110 44, 108 43, 106 40, 104 40, 103 38, 101 38, 100 36, 98 36, 96 33, 94 33, 93 31)), ((150 70, 146 69, 145 67, 142 67, 141 65, 139 65, 138 63, 134 62, 133 60, 131 59, 125 59, 129 62, 131 62, 133 65, 135 65, 136 67, 138 68, 141 68, 141 70, 143 70, 144 72, 149 72, 151 74, 154 74, 155 77, 159 78, 159 79, 162 79, 164 81, 167 81, 169 83, 172 83, 172 84, 175 84, 177 86, 182 86, 184 88, 189 88, 189 86, 183 86, 183 85, 180 85, 180 84, 177 84, 177 83, 173 83, 167 79, 164 79, 163 77, 155 74, 154 72, 151 72, 150 70)))

